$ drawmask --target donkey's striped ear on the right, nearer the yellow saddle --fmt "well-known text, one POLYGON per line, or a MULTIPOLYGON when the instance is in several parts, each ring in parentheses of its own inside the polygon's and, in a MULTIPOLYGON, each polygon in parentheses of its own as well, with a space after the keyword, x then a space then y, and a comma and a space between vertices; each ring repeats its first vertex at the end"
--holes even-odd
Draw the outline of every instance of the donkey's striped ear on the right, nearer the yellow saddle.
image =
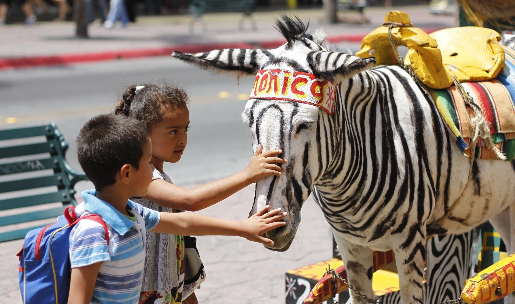
POLYGON ((327 51, 314 51, 307 55, 307 62, 319 77, 338 81, 370 69, 375 58, 359 58, 356 56, 327 51))

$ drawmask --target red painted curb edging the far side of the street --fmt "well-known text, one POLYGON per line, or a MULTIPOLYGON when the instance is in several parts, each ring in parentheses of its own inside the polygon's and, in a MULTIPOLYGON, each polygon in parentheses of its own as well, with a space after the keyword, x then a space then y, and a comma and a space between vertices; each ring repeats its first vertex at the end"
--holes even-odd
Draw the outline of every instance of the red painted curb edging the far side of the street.
MULTIPOLYGON (((430 33, 440 28, 425 28, 425 32, 430 33)), ((338 43, 342 41, 349 42, 361 42, 367 34, 355 34, 355 35, 339 35, 331 36, 328 41, 331 43, 338 43)), ((0 58, 0 70, 7 69, 23 69, 26 67, 34 66, 49 66, 49 65, 69 65, 72 63, 79 62, 93 62, 93 61, 105 61, 105 60, 116 60, 124 58, 141 58, 141 57, 152 57, 152 56, 168 56, 174 50, 179 50, 184 53, 200 53, 207 52, 212 49, 221 48, 276 48, 284 44, 286 40, 272 40, 272 41, 260 41, 255 44, 244 43, 244 42, 229 42, 229 43, 212 43, 212 44, 186 44, 186 45, 170 45, 166 47, 158 48, 142 48, 142 49, 130 49, 130 50, 115 50, 108 52, 98 53, 83 53, 83 54, 63 54, 55 56, 33 56, 33 57, 8 57, 0 58)))

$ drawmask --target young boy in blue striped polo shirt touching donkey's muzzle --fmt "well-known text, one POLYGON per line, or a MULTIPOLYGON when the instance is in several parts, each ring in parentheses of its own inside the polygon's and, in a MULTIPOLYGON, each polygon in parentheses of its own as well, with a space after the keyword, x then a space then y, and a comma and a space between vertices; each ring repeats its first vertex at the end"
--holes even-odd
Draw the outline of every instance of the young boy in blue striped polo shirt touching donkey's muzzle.
POLYGON ((77 137, 77 156, 95 190, 82 192, 81 215, 98 214, 70 234, 72 276, 68 304, 138 303, 145 262, 146 231, 176 235, 235 235, 272 245, 262 235, 284 225, 281 209, 268 206, 244 222, 194 213, 157 212, 129 200, 142 197, 152 180, 152 145, 146 126, 121 115, 93 117, 77 137))

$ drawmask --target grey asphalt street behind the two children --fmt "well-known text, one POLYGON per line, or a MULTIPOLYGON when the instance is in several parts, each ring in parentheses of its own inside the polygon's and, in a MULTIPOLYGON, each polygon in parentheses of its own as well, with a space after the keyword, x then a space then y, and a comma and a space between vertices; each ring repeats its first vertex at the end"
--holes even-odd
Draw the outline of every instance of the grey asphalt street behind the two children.
MULTIPOLYGON (((165 171, 179 184, 213 180, 242 170, 252 155, 241 120, 252 78, 238 86, 231 76, 171 57, 0 72, 0 128, 54 121, 70 143, 67 159, 79 168, 75 137, 85 121, 112 112, 132 83, 174 83, 190 95, 191 128, 182 159, 165 171)), ((78 190, 88 187, 78 184, 78 190)))

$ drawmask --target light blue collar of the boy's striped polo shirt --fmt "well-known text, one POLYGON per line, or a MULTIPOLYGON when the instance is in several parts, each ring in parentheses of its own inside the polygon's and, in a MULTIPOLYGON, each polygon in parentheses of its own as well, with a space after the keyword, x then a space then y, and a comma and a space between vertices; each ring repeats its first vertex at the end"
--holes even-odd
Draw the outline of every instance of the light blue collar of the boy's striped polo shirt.
MULTIPOLYGON (((84 209, 100 215, 104 222, 109 224, 119 234, 124 235, 135 224, 111 206, 111 204, 96 197, 95 189, 82 191, 80 195, 84 198, 84 209)), ((127 208, 134 209, 134 202, 128 200, 127 208)))

